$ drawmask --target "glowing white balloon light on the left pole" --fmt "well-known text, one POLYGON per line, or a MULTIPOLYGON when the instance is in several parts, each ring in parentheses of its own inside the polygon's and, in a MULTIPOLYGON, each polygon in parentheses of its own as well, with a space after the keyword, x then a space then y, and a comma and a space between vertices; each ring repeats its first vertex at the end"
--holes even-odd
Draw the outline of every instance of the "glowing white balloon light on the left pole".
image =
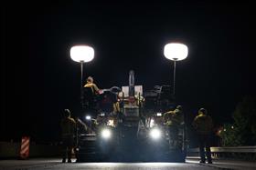
POLYGON ((77 45, 71 47, 70 56, 76 62, 90 62, 94 58, 94 50, 88 45, 77 45))

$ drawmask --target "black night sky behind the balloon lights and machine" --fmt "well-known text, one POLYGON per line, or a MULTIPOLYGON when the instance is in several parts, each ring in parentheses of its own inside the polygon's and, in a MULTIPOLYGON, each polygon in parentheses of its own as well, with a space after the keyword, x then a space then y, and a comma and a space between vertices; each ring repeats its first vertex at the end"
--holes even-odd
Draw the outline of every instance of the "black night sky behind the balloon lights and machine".
POLYGON ((171 2, 2 6, 4 138, 54 140, 63 109, 80 110, 80 64, 69 56, 77 44, 94 48, 84 77, 100 88, 128 85, 133 69, 144 90, 173 83, 164 45, 186 44, 187 59, 176 65, 178 103, 191 117, 206 107, 216 124, 230 122, 241 97, 255 95, 255 7, 171 2))

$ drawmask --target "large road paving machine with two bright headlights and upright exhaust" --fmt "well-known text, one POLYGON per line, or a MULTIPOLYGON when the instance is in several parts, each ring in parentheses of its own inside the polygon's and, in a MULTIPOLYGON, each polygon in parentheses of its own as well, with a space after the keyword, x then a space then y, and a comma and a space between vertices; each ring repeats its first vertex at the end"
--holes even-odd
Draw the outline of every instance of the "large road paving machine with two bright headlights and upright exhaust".
POLYGON ((180 125, 175 139, 178 145, 174 146, 163 122, 163 114, 174 105, 170 88, 155 89, 151 95, 144 94, 143 85, 134 85, 134 72, 130 71, 129 85, 105 89, 96 100, 85 90, 88 101, 79 120, 88 128, 78 128, 77 162, 185 162, 184 125, 180 125))

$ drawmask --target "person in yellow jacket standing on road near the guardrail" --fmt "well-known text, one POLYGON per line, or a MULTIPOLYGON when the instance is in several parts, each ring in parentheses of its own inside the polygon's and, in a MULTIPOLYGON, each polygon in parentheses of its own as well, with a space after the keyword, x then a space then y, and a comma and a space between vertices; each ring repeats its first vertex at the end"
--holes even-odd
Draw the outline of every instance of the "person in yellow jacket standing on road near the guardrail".
POLYGON ((211 117, 205 108, 198 110, 198 115, 194 119, 192 125, 196 129, 197 137, 199 141, 200 163, 206 163, 206 155, 208 164, 212 164, 211 152, 210 152, 210 134, 213 129, 213 123, 211 117), (206 152, 205 152, 206 149, 206 152))

